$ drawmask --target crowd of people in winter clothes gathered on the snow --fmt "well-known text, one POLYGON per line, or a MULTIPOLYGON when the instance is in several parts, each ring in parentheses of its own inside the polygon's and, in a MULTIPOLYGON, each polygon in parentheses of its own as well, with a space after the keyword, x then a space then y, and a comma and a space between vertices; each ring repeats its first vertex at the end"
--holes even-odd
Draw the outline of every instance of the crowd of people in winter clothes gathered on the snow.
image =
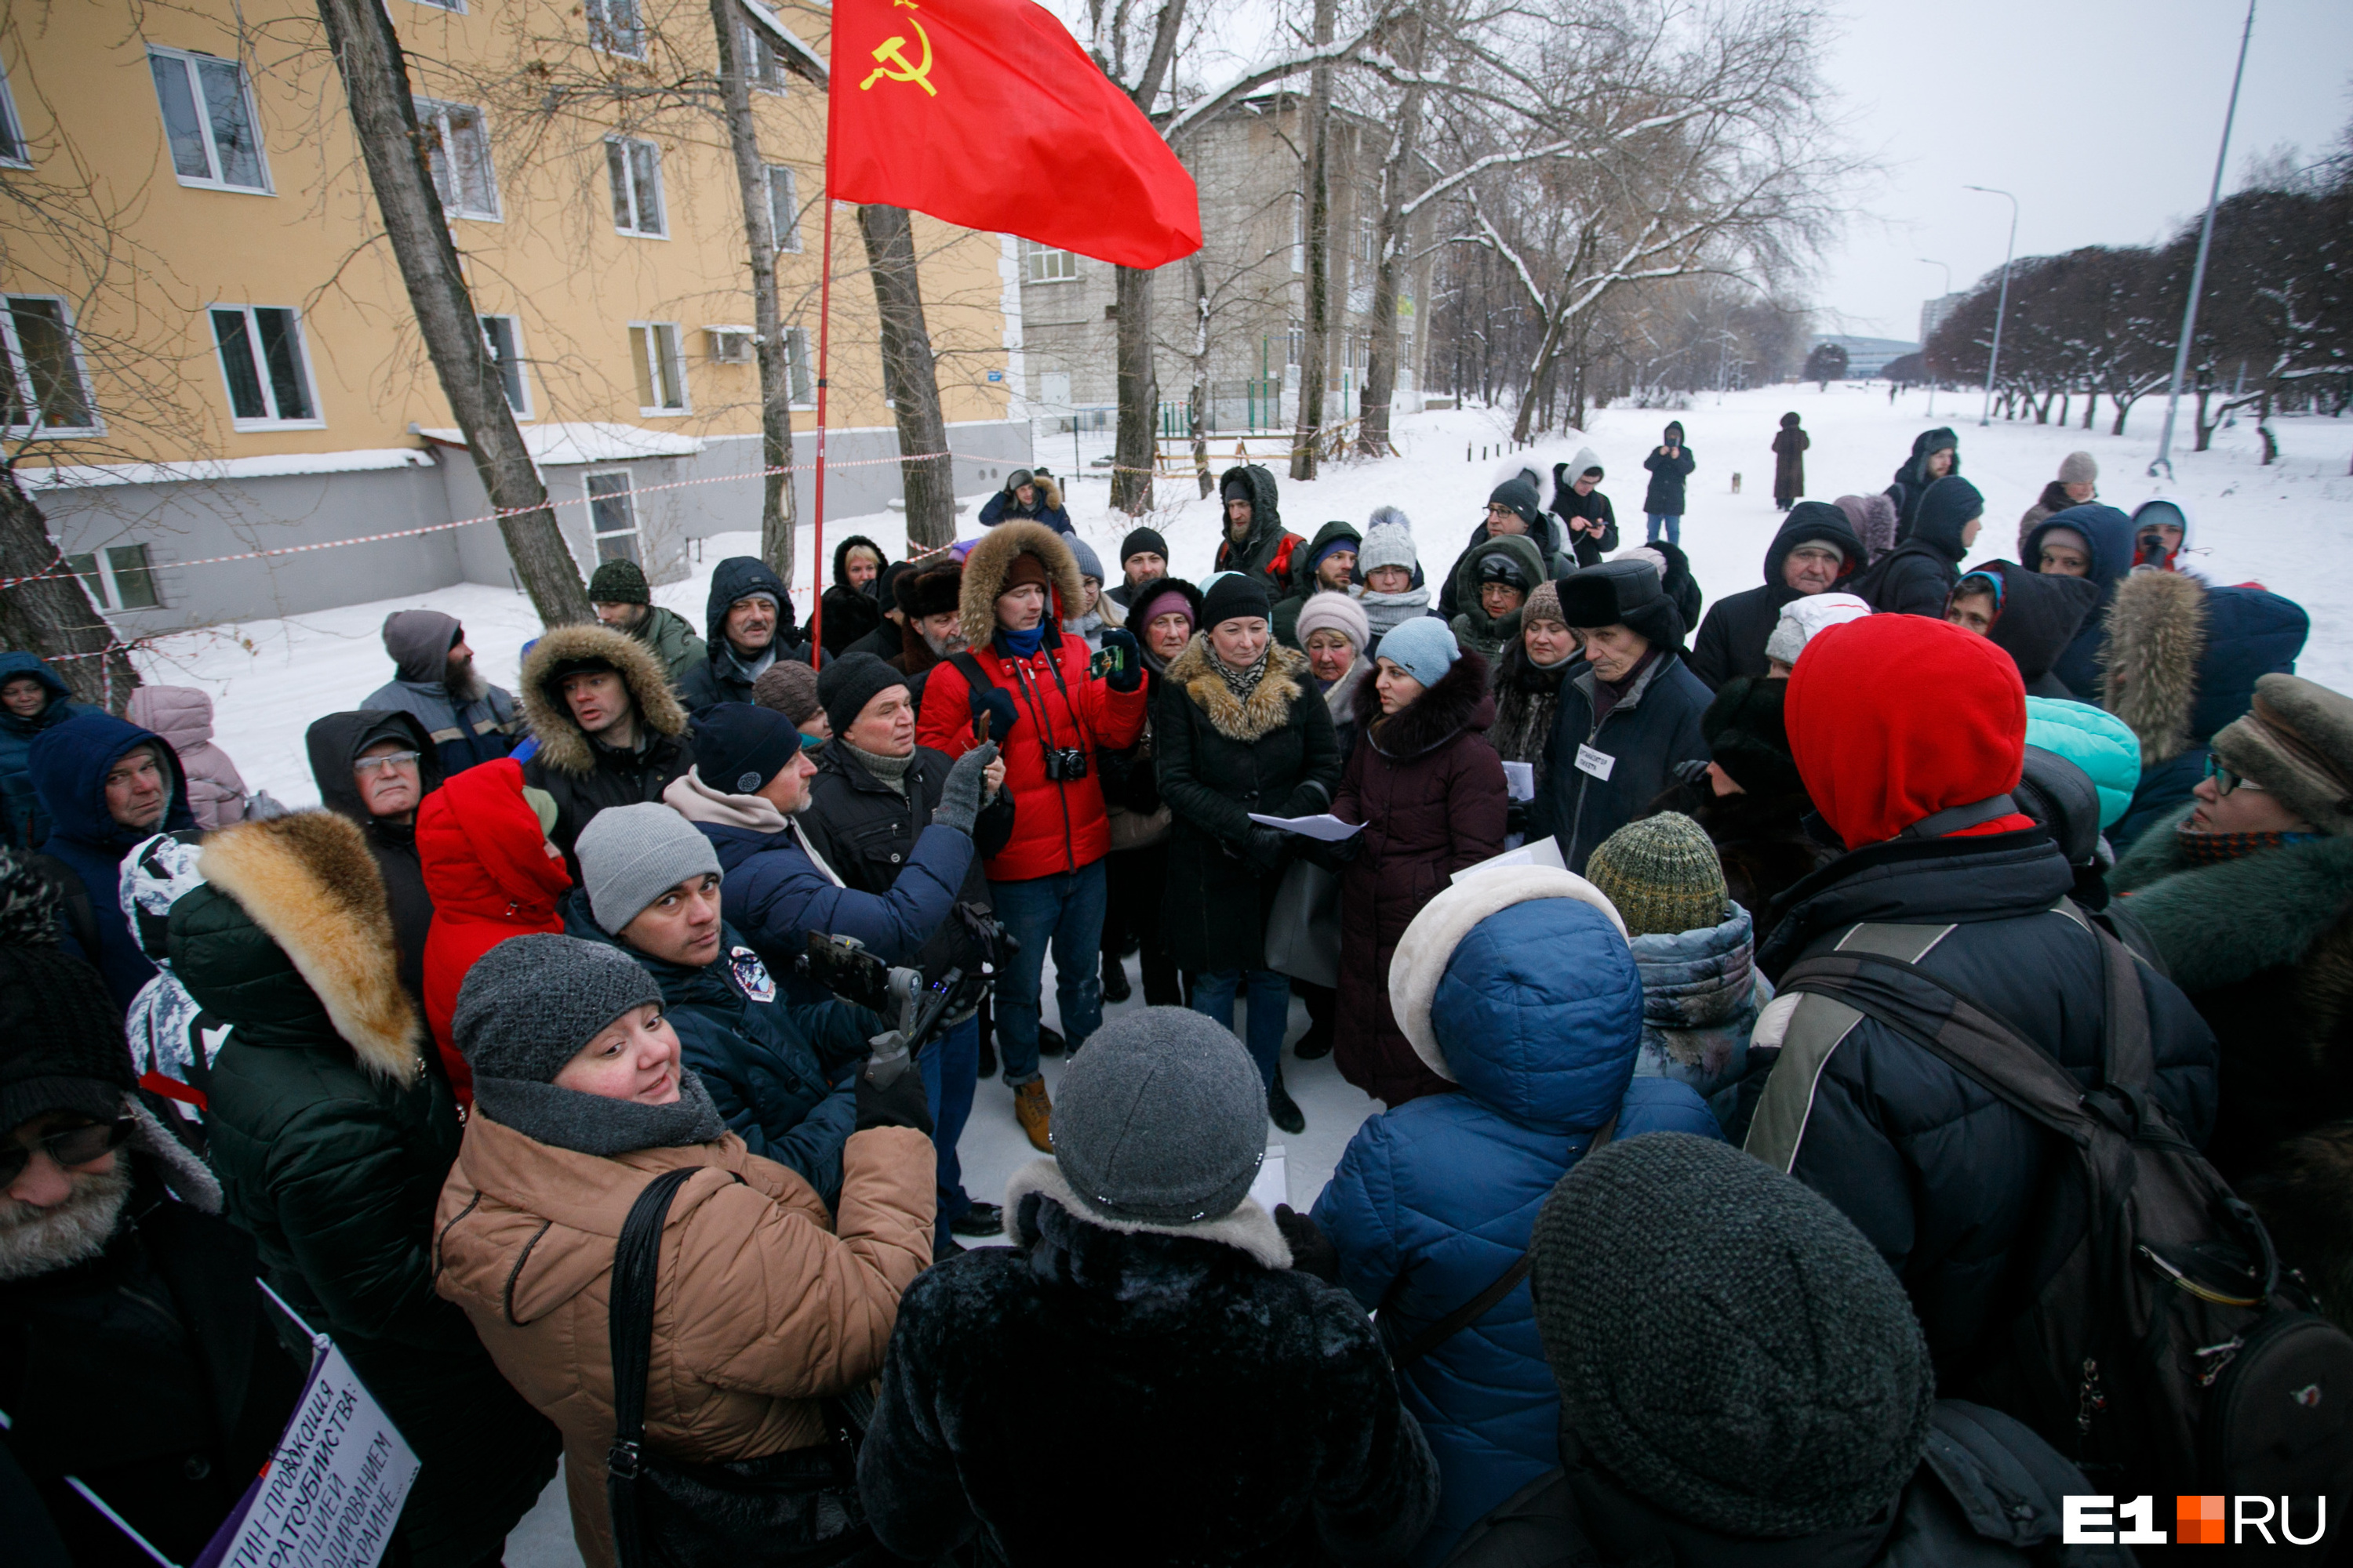
POLYGON ((821 649, 751 557, 701 635, 605 562, 513 693, 398 611, 308 811, 200 691, 0 654, 0 1530, 193 1561, 318 1331, 414 1568, 558 1458, 591 1568, 2061 1561, 2073 1493, 2219 1490, 2146 1432, 2228 1443, 2261 1333, 2045 1366, 2118 1220, 1988 1039, 2235 1194, 2259 1288, 2221 1220, 2151 1255, 2308 1324, 2329 1401, 2231 1474, 2341 1514, 2353 698, 2087 454, 1965 567, 1953 430, 1831 503, 1807 447, 1713 604, 1668 423, 1631 548, 1593 449, 1452 562, 1240 465, 1198 581, 1016 470, 953 550, 842 541, 821 649), (936 997, 904 1070, 824 938, 936 997), (1381 1110, 1268 1211, 1287 1056, 1381 1110))

